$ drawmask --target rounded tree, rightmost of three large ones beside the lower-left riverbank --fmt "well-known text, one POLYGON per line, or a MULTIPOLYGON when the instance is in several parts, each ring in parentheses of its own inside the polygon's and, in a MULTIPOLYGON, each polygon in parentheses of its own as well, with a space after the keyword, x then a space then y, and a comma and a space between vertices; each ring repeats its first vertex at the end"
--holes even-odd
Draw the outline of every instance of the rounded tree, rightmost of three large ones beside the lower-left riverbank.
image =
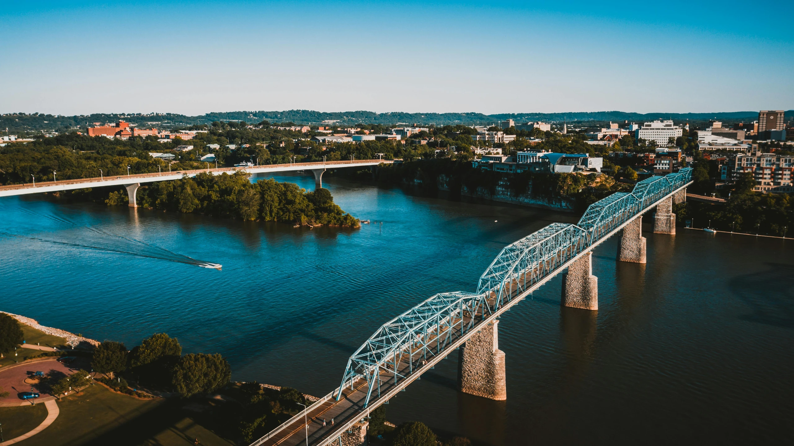
POLYGON ((179 359, 172 371, 172 384, 183 398, 214 392, 229 383, 232 369, 218 353, 190 353, 179 359))

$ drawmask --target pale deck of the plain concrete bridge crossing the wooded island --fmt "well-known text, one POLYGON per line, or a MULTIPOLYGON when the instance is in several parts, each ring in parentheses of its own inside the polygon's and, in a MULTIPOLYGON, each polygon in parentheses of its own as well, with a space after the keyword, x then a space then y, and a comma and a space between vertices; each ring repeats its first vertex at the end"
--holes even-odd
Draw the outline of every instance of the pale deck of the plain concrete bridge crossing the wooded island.
MULTIPOLYGON (((40 192, 57 192, 60 190, 85 189, 87 187, 127 186, 134 183, 154 183, 156 181, 168 181, 172 179, 181 179, 183 177, 194 177, 200 173, 211 173, 212 175, 221 175, 226 173, 231 175, 240 171, 249 174, 280 171, 322 171, 326 168, 376 166, 380 163, 393 162, 394 161, 391 160, 321 161, 318 163, 266 164, 252 167, 218 167, 197 169, 193 171, 155 172, 134 175, 101 176, 98 178, 64 179, 60 181, 36 183, 35 185, 33 185, 33 183, 26 183, 0 186, 0 197, 22 194, 38 194, 40 192)), ((317 175, 315 175, 315 179, 318 179, 317 175)))

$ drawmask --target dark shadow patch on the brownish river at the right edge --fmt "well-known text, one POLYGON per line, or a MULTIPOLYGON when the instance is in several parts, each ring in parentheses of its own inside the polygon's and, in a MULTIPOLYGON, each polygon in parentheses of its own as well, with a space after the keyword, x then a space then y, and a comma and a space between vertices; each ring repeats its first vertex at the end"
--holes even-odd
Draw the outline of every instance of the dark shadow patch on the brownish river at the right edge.
POLYGON ((794 290, 791 284, 794 266, 781 263, 766 265, 769 267, 766 271, 730 280, 730 291, 753 311, 740 319, 794 329, 794 290))

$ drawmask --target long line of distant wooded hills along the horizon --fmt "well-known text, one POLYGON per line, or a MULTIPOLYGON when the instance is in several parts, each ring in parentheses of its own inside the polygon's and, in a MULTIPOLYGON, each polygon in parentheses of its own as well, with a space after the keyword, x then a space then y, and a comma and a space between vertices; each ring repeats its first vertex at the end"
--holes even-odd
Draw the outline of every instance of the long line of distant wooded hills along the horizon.
MULTIPOLYGON (((786 115, 791 120, 794 110, 786 115)), ((752 121, 758 117, 757 111, 722 112, 722 113, 630 113, 622 111, 602 112, 569 112, 569 113, 375 113, 370 111, 349 112, 318 112, 314 110, 285 111, 236 111, 206 113, 200 116, 185 116, 175 113, 152 113, 148 115, 126 113, 94 113, 79 116, 53 116, 39 113, 7 113, 0 116, 0 130, 9 129, 11 133, 20 131, 85 129, 94 122, 105 124, 119 119, 137 124, 140 127, 184 127, 187 125, 210 124, 212 121, 260 121, 295 122, 295 124, 320 124, 322 121, 339 121, 340 124, 381 124, 381 125, 490 125, 497 121, 511 118, 516 123, 527 121, 652 121, 654 119, 673 119, 673 121, 707 121, 717 119, 732 123, 733 121, 752 121)))

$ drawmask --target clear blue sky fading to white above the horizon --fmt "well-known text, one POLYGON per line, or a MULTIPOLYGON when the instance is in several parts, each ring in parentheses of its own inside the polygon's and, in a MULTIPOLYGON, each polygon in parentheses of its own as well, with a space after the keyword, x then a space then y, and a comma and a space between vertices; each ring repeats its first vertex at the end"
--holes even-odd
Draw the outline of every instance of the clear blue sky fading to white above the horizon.
POLYGON ((0 113, 794 108, 794 2, 0 2, 0 113))

